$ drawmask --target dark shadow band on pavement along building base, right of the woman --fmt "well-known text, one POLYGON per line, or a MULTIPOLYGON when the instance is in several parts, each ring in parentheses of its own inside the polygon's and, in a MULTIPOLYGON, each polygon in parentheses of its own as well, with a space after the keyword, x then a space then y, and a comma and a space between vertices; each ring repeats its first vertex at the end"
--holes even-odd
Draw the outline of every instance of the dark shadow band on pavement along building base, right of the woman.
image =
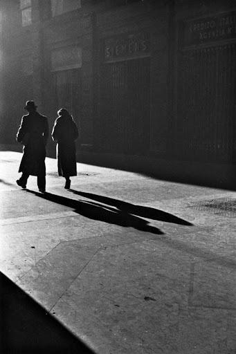
POLYGON ((173 183, 185 183, 235 190, 236 165, 200 162, 198 160, 172 160, 158 156, 132 156, 118 153, 86 153, 80 151, 78 162, 89 165, 120 169, 173 183))

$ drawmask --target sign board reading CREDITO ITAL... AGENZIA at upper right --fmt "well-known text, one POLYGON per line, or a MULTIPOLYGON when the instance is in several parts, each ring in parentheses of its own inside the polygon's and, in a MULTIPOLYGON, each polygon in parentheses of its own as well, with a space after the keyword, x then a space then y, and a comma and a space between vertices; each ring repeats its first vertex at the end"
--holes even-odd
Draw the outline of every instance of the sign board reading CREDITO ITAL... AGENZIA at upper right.
POLYGON ((181 46, 194 46, 224 39, 236 39, 236 12, 183 21, 181 46))

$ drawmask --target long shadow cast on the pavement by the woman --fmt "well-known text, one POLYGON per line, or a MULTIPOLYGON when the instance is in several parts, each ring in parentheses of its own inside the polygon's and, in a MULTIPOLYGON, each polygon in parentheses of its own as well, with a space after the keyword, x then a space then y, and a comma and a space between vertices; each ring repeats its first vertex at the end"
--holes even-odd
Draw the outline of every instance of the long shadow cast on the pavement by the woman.
POLYGON ((79 196, 85 196, 86 198, 93 199, 100 203, 112 205, 116 207, 120 212, 140 216, 143 218, 152 218, 152 220, 164 221, 165 223, 175 223, 179 225, 192 226, 192 223, 185 221, 182 218, 178 218, 170 213, 163 212, 163 210, 154 209, 153 207, 144 207, 143 205, 135 205, 120 201, 118 199, 109 198, 107 196, 100 196, 98 194, 92 194, 87 192, 80 192, 75 189, 70 189, 74 194, 79 196))

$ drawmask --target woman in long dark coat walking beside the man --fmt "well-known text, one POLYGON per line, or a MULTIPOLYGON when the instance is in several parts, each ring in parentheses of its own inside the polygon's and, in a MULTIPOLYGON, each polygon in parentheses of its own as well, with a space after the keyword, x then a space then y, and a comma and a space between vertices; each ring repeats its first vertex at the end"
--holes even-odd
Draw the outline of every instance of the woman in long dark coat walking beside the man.
POLYGON ((66 109, 60 109, 57 115, 52 138, 57 142, 58 174, 66 178, 65 188, 69 189, 71 187, 70 177, 77 175, 75 140, 78 138, 78 128, 66 109))

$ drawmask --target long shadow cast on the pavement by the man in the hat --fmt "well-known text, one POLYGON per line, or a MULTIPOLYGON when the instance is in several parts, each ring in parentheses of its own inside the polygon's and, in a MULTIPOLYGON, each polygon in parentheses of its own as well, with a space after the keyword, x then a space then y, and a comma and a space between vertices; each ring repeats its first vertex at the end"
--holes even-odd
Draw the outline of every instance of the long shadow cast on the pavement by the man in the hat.
POLYGON ((26 191, 48 201, 52 201, 53 203, 71 207, 74 212, 93 220, 103 221, 105 223, 123 227, 134 227, 136 230, 151 232, 152 234, 163 234, 161 230, 157 227, 149 225, 148 221, 143 218, 139 218, 138 216, 131 215, 127 212, 122 212, 115 208, 89 201, 76 201, 75 199, 58 196, 57 194, 48 192, 41 194, 39 192, 33 192, 30 189, 26 189, 26 191))

